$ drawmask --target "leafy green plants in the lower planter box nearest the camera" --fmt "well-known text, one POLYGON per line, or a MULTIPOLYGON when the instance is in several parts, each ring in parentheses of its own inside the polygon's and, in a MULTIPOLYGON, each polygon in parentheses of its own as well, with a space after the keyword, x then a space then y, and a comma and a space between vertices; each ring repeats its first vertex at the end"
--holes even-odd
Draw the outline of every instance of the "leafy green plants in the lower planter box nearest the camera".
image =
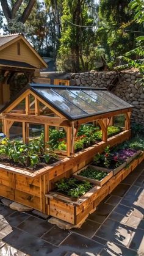
POLYGON ((63 178, 56 184, 56 191, 67 196, 78 198, 83 196, 93 186, 88 181, 79 181, 75 178, 63 178))

